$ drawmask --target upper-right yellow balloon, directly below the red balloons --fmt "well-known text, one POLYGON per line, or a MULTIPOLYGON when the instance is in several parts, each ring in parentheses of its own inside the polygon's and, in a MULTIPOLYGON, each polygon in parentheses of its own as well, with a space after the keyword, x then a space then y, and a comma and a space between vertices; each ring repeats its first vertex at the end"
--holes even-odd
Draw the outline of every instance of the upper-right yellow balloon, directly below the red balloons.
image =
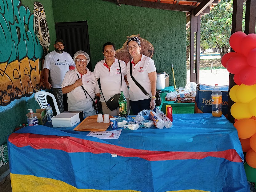
POLYGON ((236 98, 242 103, 251 102, 256 98, 256 86, 241 84, 236 90, 236 98))

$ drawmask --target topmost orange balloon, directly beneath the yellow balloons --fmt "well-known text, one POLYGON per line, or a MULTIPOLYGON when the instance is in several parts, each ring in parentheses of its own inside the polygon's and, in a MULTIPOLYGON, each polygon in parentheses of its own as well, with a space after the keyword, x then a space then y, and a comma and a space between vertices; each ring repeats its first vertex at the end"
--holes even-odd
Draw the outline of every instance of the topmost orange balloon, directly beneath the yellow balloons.
POLYGON ((239 138, 247 139, 256 133, 256 120, 239 119, 234 123, 234 127, 237 129, 239 138))

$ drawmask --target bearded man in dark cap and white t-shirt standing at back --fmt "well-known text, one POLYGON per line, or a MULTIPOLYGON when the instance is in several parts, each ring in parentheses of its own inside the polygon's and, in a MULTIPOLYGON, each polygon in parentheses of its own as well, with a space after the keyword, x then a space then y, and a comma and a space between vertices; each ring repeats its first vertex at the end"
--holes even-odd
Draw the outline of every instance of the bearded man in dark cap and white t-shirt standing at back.
MULTIPOLYGON (((61 89, 62 81, 69 66, 75 66, 75 63, 67 52, 63 51, 64 42, 57 39, 54 44, 55 50, 48 53, 44 60, 44 82, 47 89, 52 89, 56 98, 60 113, 64 111, 63 93, 61 89), (48 81, 50 72, 51 83, 48 81)), ((65 96, 64 96, 65 97, 65 96)))

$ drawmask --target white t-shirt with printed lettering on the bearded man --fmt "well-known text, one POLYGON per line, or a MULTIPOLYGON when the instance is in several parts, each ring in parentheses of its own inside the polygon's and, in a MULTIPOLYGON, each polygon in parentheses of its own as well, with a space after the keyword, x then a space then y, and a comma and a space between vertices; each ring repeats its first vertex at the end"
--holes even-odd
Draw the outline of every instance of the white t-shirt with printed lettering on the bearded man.
POLYGON ((55 50, 45 56, 43 69, 50 70, 51 86, 61 88, 61 83, 69 66, 76 66, 70 54, 67 52, 57 53, 55 50))

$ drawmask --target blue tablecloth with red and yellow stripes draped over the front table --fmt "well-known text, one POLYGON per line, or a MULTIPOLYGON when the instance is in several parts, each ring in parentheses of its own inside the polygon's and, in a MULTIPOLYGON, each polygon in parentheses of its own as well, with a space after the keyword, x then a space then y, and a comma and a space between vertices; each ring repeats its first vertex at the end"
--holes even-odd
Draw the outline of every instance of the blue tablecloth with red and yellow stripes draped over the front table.
POLYGON ((250 191, 232 123, 211 114, 173 118, 170 129, 122 130, 119 139, 22 128, 8 138, 13 192, 250 191))

